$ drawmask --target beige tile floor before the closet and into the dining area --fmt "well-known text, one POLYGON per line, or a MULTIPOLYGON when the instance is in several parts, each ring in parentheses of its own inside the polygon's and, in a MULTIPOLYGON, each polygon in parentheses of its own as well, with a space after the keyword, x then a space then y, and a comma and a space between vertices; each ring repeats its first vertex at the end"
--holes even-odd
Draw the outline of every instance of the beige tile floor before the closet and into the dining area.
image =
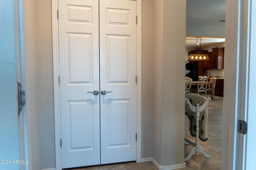
MULTIPOLYGON (((192 156, 186 161, 187 170, 220 170, 221 169, 221 155, 222 155, 222 116, 223 116, 223 98, 215 97, 208 104, 208 141, 200 141, 200 145, 204 148, 205 152, 212 156, 212 158, 205 158, 202 153, 192 156)), ((189 133, 188 118, 185 121, 185 135, 190 140, 195 140, 189 133)), ((185 154, 189 153, 192 148, 191 145, 184 145, 185 154)), ((125 162, 120 164, 108 164, 90 166, 84 168, 70 168, 66 170, 157 170, 153 162, 125 162)), ((182 170, 182 169, 180 169, 182 170)))

